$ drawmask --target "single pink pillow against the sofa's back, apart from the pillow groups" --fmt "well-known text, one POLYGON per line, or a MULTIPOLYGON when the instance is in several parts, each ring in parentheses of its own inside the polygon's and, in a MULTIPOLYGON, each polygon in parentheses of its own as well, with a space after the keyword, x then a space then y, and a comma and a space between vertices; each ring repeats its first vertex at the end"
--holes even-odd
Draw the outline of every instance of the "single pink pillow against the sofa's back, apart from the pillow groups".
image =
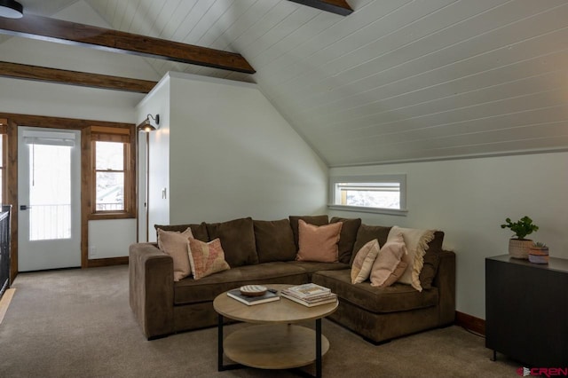
POLYGON ((320 263, 337 263, 337 243, 343 223, 313 225, 298 220, 299 249, 298 261, 316 261, 320 263))

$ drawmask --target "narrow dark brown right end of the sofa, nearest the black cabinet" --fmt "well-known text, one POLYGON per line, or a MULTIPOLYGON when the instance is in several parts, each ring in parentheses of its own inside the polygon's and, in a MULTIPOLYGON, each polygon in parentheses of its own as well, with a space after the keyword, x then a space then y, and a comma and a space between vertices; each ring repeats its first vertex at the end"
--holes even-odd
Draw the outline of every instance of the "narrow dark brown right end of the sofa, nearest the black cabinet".
POLYGON ((438 274, 432 285, 438 287, 440 325, 454 323, 455 319, 455 253, 439 253, 438 274))

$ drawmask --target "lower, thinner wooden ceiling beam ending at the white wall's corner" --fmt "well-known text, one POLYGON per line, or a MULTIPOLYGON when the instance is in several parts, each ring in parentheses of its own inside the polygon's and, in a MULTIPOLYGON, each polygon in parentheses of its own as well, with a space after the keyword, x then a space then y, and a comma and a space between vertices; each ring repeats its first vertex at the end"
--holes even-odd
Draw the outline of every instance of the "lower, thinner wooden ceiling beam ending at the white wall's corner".
POLYGON ((151 91, 156 84, 156 82, 148 80, 88 74, 84 72, 67 71, 65 69, 29 66, 3 61, 0 61, 0 76, 138 93, 147 93, 151 91))

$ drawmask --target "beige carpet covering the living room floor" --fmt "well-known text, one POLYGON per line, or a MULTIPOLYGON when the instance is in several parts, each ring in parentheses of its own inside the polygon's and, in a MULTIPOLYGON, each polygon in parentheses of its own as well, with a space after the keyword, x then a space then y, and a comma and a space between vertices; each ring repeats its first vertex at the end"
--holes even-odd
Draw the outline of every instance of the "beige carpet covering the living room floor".
MULTIPOLYGON (((130 312, 128 268, 21 273, 0 324, 0 377, 288 377, 251 368, 217 372, 217 329, 146 341, 130 312)), ((235 327, 227 327, 227 333, 235 327)), ((374 346, 324 320, 324 377, 517 376, 490 361, 485 340, 446 327, 374 346)), ((313 366, 306 371, 313 373, 313 366)))

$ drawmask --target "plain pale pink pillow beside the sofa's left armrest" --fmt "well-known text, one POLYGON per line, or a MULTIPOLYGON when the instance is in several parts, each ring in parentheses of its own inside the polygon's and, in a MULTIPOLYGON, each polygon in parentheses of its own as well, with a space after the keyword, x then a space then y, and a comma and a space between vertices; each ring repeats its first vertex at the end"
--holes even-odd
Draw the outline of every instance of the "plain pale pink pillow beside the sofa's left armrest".
POLYGON ((178 281, 189 276, 188 238, 193 238, 192 229, 187 227, 184 232, 163 231, 158 229, 158 248, 171 256, 174 261, 174 280, 178 281))

